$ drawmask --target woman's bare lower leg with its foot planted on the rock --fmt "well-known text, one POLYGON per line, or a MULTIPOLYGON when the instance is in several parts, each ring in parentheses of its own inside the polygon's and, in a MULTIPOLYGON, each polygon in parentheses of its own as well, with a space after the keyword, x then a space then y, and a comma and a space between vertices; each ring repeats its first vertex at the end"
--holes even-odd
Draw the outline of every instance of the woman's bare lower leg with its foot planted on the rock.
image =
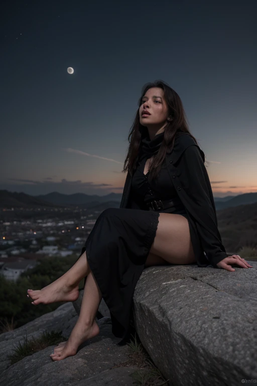
POLYGON ((78 347, 87 339, 99 334, 99 327, 95 321, 102 295, 98 284, 90 272, 86 278, 84 294, 81 303, 79 318, 67 342, 62 342, 54 349, 50 357, 53 360, 62 360, 67 356, 76 355, 78 347))

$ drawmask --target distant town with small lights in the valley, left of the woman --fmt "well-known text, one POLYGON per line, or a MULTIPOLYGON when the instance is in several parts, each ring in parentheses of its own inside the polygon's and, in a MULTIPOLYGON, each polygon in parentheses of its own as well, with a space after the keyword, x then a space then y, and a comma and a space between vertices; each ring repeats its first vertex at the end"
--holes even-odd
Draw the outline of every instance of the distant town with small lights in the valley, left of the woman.
POLYGON ((1 209, 0 273, 7 279, 16 281, 39 258, 79 256, 99 214, 119 202, 51 206, 1 209))

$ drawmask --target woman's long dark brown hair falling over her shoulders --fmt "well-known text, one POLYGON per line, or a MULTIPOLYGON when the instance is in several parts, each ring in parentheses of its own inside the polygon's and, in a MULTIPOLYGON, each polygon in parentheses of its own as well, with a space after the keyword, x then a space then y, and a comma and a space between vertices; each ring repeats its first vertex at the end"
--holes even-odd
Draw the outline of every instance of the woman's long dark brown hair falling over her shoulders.
MULTIPOLYGON (((171 151, 174 146, 175 136, 177 131, 188 133, 199 145, 195 137, 190 133, 187 118, 184 111, 182 101, 177 92, 171 88, 167 83, 162 80, 156 80, 155 82, 146 83, 142 88, 142 93, 138 101, 138 106, 142 105, 142 99, 149 88, 160 87, 164 91, 164 98, 169 108, 169 116, 172 116, 171 121, 167 121, 167 125, 164 129, 164 139, 160 146, 158 153, 153 157, 153 160, 149 167, 149 179, 156 178, 161 169, 161 165, 165 159, 166 152, 171 151)), ((132 175, 133 170, 136 168, 136 159, 140 152, 141 138, 146 133, 147 128, 140 123, 139 108, 136 112, 134 123, 131 127, 129 134, 129 149, 124 161, 124 168, 122 172, 129 171, 132 175)))

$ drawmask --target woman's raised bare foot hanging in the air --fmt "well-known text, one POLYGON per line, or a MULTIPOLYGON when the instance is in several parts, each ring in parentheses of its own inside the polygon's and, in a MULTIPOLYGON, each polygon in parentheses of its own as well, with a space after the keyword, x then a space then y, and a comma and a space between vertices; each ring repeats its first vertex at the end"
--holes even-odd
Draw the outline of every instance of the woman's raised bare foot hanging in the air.
POLYGON ((59 277, 42 289, 36 291, 28 289, 27 292, 27 297, 33 299, 33 302, 31 303, 34 305, 40 303, 75 302, 79 297, 78 285, 70 286, 62 277, 59 277))

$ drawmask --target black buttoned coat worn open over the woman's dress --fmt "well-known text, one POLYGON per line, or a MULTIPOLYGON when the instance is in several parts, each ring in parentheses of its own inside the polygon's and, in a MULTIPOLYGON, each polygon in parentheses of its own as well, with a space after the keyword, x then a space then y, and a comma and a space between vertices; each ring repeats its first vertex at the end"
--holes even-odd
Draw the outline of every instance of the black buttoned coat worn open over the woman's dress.
MULTIPOLYGON (((211 184, 204 162, 204 152, 184 132, 176 136, 172 151, 166 153, 171 182, 186 208, 188 221, 195 224, 192 230, 196 230, 195 239, 199 240, 194 245, 197 265, 218 268, 216 264, 228 255, 218 231, 211 184)), ((132 198, 131 182, 132 176, 128 172, 119 207, 142 209, 132 198)))

